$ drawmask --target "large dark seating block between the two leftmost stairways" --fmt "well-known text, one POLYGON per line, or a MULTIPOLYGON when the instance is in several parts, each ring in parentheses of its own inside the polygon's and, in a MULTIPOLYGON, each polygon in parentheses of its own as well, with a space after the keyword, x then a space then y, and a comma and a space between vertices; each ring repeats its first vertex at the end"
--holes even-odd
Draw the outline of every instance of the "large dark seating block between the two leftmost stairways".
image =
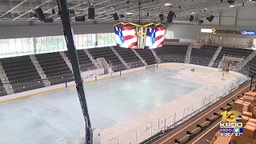
POLYGON ((14 93, 34 90, 45 86, 30 57, 21 56, 0 59, 14 93))

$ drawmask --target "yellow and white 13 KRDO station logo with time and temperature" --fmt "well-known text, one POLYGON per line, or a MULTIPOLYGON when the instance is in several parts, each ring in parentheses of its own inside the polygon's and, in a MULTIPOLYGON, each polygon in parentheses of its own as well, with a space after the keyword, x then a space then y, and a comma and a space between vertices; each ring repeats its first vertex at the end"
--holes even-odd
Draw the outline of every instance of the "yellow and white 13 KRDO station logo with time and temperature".
POLYGON ((238 114, 238 111, 223 111, 222 122, 220 123, 219 131, 222 137, 230 137, 231 134, 238 137, 242 135, 242 116, 238 114))

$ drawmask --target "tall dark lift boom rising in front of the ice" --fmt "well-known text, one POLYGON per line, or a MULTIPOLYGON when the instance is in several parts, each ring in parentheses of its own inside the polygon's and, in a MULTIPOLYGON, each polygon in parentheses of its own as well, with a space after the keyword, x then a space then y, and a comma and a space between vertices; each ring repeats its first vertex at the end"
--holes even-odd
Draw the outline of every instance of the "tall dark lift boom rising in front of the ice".
POLYGON ((66 39, 67 51, 70 54, 70 62, 72 64, 72 69, 74 71, 74 81, 76 83, 76 89, 78 91, 78 97, 80 100, 82 113, 86 122, 86 136, 85 143, 93 144, 93 130, 91 128, 90 117, 86 104, 85 90, 83 87, 83 81, 78 64, 78 54, 74 46, 73 29, 70 24, 70 14, 67 6, 66 0, 57 0, 58 12, 62 19, 63 32, 66 39))

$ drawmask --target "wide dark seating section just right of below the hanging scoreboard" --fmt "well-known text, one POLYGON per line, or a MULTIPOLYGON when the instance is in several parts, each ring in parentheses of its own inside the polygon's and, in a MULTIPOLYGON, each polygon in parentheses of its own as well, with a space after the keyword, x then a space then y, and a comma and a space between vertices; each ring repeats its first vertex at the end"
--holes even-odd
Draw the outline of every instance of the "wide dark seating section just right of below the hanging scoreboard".
POLYGON ((185 62, 186 51, 186 45, 162 46, 161 48, 155 49, 161 62, 185 62))

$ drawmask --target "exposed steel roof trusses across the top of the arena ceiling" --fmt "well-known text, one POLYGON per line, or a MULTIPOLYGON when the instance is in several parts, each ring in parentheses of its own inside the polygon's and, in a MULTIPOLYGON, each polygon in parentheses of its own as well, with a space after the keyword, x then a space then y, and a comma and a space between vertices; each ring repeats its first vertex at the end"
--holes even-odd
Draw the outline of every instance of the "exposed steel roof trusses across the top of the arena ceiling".
MULTIPOLYGON (((90 3, 95 8, 95 21, 114 20, 112 14, 118 13, 119 19, 124 21, 151 21, 158 22, 159 14, 164 14, 166 19, 170 10, 174 11, 174 21, 188 21, 193 14, 196 19, 209 16, 216 12, 231 10, 227 0, 68 0, 70 9, 75 11, 71 16, 85 16, 90 3), (140 10, 138 1, 141 2, 140 10), (170 3, 170 6, 166 6, 170 3), (126 13, 132 14, 126 14, 126 13), (120 14, 125 17, 120 18, 120 14)), ((246 8, 255 6, 255 2, 248 0, 235 0, 235 8, 246 8), (244 2, 244 6, 242 3, 244 2)), ((55 0, 0 0, 0 21, 34 21, 38 23, 38 18, 34 17, 34 9, 41 7, 46 18, 54 18, 58 21, 58 6, 55 0), (52 10, 55 14, 52 14, 52 10)), ((165 20, 166 21, 166 20, 165 20)))

